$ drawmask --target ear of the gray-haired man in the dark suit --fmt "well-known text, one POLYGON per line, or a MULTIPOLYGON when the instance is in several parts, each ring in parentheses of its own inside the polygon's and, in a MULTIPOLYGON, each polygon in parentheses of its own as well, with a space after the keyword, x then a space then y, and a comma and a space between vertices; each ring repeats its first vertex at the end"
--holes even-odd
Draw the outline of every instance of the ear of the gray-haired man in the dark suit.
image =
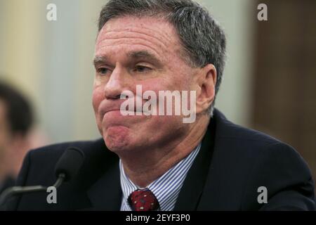
POLYGON ((217 72, 213 64, 200 69, 197 75, 197 113, 206 112, 215 98, 217 72))

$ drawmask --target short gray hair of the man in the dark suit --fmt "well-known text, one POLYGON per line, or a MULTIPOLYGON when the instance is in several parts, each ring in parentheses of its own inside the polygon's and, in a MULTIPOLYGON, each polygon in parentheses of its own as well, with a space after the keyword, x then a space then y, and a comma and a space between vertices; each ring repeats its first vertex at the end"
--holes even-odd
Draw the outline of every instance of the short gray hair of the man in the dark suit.
MULTIPOLYGON (((98 30, 112 18, 124 15, 160 16, 175 28, 183 46, 185 61, 194 68, 213 64, 217 70, 217 96, 225 67, 225 34, 206 8, 192 0, 110 0, 103 7, 98 30)), ((213 115, 215 98, 209 113, 213 115)))

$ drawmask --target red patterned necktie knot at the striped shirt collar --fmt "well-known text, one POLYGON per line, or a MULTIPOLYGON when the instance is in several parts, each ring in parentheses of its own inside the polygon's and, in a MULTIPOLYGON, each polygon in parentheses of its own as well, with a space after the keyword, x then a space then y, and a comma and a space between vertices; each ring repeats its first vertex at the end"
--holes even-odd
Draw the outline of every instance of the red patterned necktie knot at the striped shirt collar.
POLYGON ((157 198, 148 188, 133 191, 129 195, 129 205, 133 211, 154 211, 159 208, 157 198))

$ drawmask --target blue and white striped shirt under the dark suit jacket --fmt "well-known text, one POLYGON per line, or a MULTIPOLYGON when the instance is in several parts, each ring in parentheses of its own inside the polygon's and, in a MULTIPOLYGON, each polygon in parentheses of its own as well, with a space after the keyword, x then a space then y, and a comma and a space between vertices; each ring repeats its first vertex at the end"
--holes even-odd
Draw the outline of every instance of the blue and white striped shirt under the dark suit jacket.
MULTIPOLYGON (((187 172, 193 164, 197 154, 199 153, 199 149, 201 148, 201 144, 195 148, 195 150, 187 155, 186 158, 178 162, 178 164, 174 165, 168 172, 159 177, 159 179, 155 180, 147 186, 146 188, 150 189, 152 193, 156 196, 159 203, 159 211, 172 211, 176 205, 176 201, 178 199, 178 195, 183 186, 183 181, 187 176, 187 172)), ((139 188, 136 184, 127 177, 124 172, 124 167, 122 165, 121 160, 119 160, 119 171, 120 171, 120 179, 121 179, 121 190, 123 192, 123 197, 121 200, 121 211, 132 211, 131 207, 128 203, 129 195, 133 191, 136 191, 139 188)))

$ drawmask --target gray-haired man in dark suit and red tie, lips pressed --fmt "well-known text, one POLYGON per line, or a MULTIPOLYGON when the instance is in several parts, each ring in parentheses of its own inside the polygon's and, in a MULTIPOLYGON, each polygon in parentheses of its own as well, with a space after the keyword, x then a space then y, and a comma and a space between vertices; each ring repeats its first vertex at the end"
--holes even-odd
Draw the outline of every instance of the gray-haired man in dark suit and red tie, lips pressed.
MULTIPOLYGON (((10 209, 314 210, 312 176, 296 150, 232 124, 213 108, 224 64, 225 35, 199 4, 109 1, 100 13, 94 59, 93 109, 103 139, 30 152, 21 186, 51 186, 67 147, 81 148, 86 159, 58 190, 57 204, 34 193, 15 198, 10 209), (157 96, 193 91, 196 120, 184 123, 183 113, 145 115, 145 107, 124 112, 126 99, 138 101, 137 86, 157 96)), ((142 96, 143 106, 147 101, 142 96)), ((161 98, 157 103, 164 107, 161 98)))

